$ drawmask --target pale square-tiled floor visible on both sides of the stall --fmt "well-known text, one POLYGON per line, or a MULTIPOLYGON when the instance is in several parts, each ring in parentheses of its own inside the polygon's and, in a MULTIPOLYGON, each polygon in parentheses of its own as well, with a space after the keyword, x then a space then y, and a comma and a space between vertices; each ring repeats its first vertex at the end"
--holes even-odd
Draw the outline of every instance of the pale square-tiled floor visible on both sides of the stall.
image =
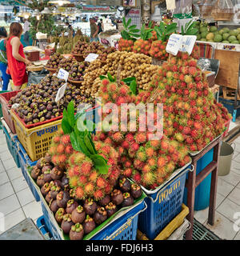
MULTIPOLYGON (((207 224, 208 208, 194 213, 194 218, 214 234, 227 240, 240 240, 240 137, 234 142, 236 148, 230 174, 218 176, 214 226, 207 224)), ((0 130, 0 212, 4 214, 6 230, 25 218, 30 217, 36 221, 42 216, 40 202, 34 200, 20 168, 15 165, 2 130, 0 130)))

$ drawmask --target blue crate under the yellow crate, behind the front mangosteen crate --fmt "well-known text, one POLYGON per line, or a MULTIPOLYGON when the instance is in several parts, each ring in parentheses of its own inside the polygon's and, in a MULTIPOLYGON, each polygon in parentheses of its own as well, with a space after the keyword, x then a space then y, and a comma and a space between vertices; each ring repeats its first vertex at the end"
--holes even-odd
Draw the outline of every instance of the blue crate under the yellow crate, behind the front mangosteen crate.
POLYGON ((18 157, 19 157, 19 161, 20 161, 22 175, 25 178, 27 185, 30 187, 30 190, 31 190, 32 194, 34 195, 35 200, 38 202, 38 201, 40 201, 38 190, 36 190, 34 183, 28 176, 27 170, 26 170, 27 166, 35 166, 37 161, 32 162, 30 160, 30 158, 26 154, 26 151, 24 150, 22 144, 18 141, 18 139, 16 140, 16 145, 18 148, 18 157))

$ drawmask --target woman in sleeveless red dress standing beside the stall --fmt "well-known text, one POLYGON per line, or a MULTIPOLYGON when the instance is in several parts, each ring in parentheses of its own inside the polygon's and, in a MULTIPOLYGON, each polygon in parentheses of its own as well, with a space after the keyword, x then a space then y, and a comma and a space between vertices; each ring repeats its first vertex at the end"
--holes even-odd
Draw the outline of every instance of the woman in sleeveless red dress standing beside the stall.
POLYGON ((22 85, 26 84, 28 80, 26 65, 31 63, 23 53, 23 46, 20 42, 21 34, 22 25, 18 22, 11 23, 10 34, 6 41, 6 56, 8 72, 14 83, 13 90, 20 90, 22 85))

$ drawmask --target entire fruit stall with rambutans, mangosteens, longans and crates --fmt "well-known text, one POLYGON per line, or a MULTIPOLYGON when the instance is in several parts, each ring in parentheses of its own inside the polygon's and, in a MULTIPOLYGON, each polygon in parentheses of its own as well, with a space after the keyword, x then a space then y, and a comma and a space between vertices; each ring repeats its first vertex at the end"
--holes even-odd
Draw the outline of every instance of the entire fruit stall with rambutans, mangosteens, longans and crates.
POLYGON ((4 131, 41 202, 42 233, 58 240, 158 240, 187 219, 191 239, 195 188, 208 174, 214 224, 219 148, 231 115, 198 66, 197 23, 187 22, 181 33, 174 22, 140 30, 131 19, 122 24, 118 49, 82 34, 52 38, 60 48, 46 60, 49 74, 0 95, 4 131), (176 54, 168 50, 173 35, 182 38, 176 54), (186 38, 193 40, 190 51, 182 50, 186 38))

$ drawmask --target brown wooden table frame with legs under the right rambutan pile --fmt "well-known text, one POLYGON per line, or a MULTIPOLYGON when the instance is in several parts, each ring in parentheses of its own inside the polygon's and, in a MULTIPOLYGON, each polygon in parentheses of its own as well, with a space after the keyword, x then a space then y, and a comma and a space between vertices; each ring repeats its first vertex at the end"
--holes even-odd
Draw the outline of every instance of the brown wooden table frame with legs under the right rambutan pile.
POLYGON ((193 226, 194 226, 194 200, 195 200, 195 189, 196 187, 210 174, 211 184, 210 184, 210 206, 208 214, 208 223, 214 225, 215 217, 215 206, 216 206, 216 194, 218 185, 218 157, 220 154, 220 143, 222 142, 222 136, 211 142, 209 146, 206 146, 199 154, 192 157, 192 165, 194 166, 193 171, 191 171, 186 180, 187 188, 187 206, 189 207, 190 213, 187 215, 188 221, 191 223, 190 230, 186 232, 186 240, 191 240, 193 236, 193 226), (202 156, 214 148, 214 158, 198 175, 196 174, 197 162, 202 156))

